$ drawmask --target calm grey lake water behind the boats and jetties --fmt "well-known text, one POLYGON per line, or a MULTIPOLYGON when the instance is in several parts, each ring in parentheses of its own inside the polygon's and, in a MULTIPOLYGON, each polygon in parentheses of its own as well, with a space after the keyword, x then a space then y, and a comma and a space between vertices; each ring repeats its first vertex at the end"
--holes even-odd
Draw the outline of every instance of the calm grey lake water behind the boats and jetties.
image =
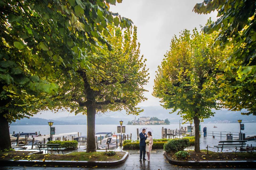
MULTIPOLYGON (((246 135, 256 134, 256 123, 244 123, 245 130, 243 133, 246 135)), ((181 126, 185 127, 189 124, 181 124, 181 126)), ((96 125, 95 131, 98 132, 117 132, 117 126, 119 125, 96 125)), ((137 138, 137 128, 148 127, 153 130, 152 136, 153 138, 160 139, 161 138, 161 130, 162 127, 167 129, 179 129, 179 124, 170 124, 170 125, 124 125, 126 126, 125 134, 132 134, 132 139, 136 140, 137 138)), ((194 125, 192 125, 194 126, 194 125)), ((201 130, 203 127, 207 127, 207 131, 227 131, 227 132, 239 132, 239 123, 215 123, 215 124, 201 124, 201 130), (217 126, 218 128, 213 128, 213 126, 217 126)), ((70 133, 70 132, 81 132, 82 135, 87 135, 87 126, 86 125, 54 125, 55 134, 60 133, 70 133)), ((49 134, 50 127, 48 125, 23 125, 23 126, 10 126, 10 133, 13 131, 15 133, 19 132, 39 132, 41 134, 49 134)))

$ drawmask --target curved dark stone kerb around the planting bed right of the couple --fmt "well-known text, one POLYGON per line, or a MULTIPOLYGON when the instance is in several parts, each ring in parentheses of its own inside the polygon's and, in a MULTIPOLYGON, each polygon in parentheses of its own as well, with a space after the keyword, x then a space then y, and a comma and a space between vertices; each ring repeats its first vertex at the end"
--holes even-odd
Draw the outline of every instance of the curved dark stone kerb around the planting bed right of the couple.
POLYGON ((255 166, 255 160, 241 161, 178 161, 171 159, 166 152, 163 154, 170 164, 179 166, 255 166))

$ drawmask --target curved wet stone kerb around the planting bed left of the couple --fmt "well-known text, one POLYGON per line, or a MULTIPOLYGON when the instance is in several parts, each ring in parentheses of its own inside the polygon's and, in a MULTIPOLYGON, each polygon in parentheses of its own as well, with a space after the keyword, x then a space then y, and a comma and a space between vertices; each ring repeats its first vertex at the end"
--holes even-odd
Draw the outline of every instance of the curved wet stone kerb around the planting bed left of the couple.
MULTIPOLYGON (((126 152, 126 151, 122 151, 126 152)), ((124 163, 129 153, 117 161, 63 161, 63 160, 0 160, 1 165, 59 165, 59 166, 115 166, 124 163)))

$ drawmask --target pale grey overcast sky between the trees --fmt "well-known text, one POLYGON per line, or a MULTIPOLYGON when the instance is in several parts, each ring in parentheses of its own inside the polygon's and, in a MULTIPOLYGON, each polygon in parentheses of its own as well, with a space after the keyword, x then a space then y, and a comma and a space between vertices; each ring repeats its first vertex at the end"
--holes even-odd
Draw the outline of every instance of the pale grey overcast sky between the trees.
MULTIPOLYGON (((121 16, 129 18, 138 27, 137 36, 141 43, 141 55, 147 59, 150 79, 145 89, 148 100, 139 106, 159 106, 159 99, 152 96, 155 71, 161 64, 164 54, 170 48, 171 38, 179 35, 183 29, 192 31, 195 27, 205 25, 210 17, 213 21, 217 12, 208 15, 198 15, 193 12, 196 3, 203 0, 123 0, 116 6, 110 6, 110 11, 118 12, 121 16)), ((125 114, 125 113, 124 113, 125 114)), ((34 117, 56 118, 74 116, 68 112, 53 114, 50 111, 37 114, 34 117), (50 117, 49 117, 50 116, 50 117)))

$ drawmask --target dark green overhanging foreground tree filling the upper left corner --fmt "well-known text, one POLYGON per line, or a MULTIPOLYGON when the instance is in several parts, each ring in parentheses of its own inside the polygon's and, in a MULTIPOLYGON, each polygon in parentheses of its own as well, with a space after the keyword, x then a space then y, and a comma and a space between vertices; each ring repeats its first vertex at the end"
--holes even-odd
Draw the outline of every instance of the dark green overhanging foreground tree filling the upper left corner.
POLYGON ((80 62, 87 65, 81 51, 111 50, 105 38, 108 23, 131 25, 131 20, 109 11, 109 3, 115 2, 0 1, 1 150, 10 147, 8 122, 32 116, 42 103, 53 104, 49 95, 56 94, 58 86, 45 80, 55 70, 67 74, 80 62))

